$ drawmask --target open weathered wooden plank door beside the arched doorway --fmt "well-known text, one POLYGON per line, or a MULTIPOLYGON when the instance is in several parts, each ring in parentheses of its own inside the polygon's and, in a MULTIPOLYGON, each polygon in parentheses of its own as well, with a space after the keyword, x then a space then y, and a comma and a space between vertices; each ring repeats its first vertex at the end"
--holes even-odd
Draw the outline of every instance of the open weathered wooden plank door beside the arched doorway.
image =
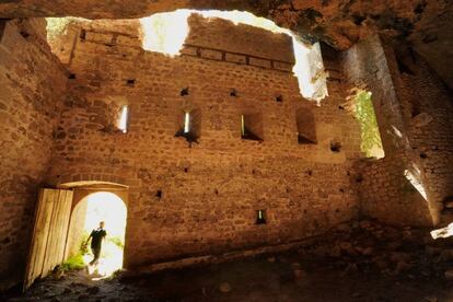
POLYGON ((35 279, 46 277, 65 260, 71 205, 72 190, 47 188, 39 190, 24 290, 35 279))

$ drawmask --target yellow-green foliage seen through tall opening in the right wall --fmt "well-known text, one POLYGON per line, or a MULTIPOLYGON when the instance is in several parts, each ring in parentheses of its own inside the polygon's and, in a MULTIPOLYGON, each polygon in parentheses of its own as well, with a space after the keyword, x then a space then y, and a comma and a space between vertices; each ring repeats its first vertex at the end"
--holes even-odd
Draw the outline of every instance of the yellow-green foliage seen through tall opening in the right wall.
POLYGON ((355 97, 355 113, 362 130, 360 149, 367 156, 373 158, 376 150, 382 150, 382 141, 371 93, 367 91, 357 93, 355 97))

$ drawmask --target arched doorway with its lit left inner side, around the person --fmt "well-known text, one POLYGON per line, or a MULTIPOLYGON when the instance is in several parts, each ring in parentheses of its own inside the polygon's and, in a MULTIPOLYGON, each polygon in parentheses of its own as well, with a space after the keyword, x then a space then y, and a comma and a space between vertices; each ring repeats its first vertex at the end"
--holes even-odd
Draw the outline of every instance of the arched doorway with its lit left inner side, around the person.
MULTIPOLYGON (((101 258, 95 272, 101 276, 111 276, 123 268, 124 245, 127 222, 127 206, 124 191, 86 190, 80 189, 79 201, 74 199, 67 241, 67 257, 81 258, 88 265, 93 255, 83 243, 92 230, 98 228, 101 221, 105 222, 107 236, 102 246, 101 258), (123 197, 123 198, 121 198, 123 197)), ((89 245, 90 246, 90 245, 89 245)))

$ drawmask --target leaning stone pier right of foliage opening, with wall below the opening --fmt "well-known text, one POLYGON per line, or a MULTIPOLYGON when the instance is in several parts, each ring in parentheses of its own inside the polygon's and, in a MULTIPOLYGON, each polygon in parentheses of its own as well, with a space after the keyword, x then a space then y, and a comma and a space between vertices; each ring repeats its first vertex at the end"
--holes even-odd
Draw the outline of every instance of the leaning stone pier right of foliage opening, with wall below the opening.
POLYGON ((372 92, 385 158, 358 162, 359 195, 364 216, 391 224, 432 224, 428 202, 405 176, 411 148, 400 98, 395 89, 395 59, 378 35, 345 51, 345 71, 352 85, 372 92), (360 62, 360 63, 357 63, 360 62), (404 216, 400 213, 404 212, 404 216))

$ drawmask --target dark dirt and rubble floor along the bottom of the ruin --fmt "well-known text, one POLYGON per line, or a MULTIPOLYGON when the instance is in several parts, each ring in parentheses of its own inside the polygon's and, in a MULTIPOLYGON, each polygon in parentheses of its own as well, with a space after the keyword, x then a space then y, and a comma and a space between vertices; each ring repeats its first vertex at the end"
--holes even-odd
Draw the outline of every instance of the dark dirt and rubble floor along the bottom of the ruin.
POLYGON ((72 271, 0 300, 453 301, 453 246, 427 232, 361 221, 286 253, 101 281, 72 271))

